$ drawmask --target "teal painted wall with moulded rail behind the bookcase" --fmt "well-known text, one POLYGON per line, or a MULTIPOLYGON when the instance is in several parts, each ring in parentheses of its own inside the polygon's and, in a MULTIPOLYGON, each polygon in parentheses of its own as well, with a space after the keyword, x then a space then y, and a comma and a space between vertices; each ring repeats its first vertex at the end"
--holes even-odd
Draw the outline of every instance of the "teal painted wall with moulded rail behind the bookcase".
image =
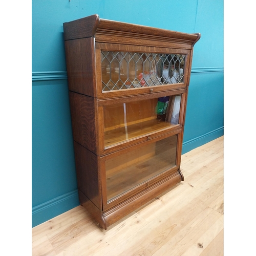
POLYGON ((79 205, 62 24, 92 14, 201 33, 183 154, 223 135, 223 0, 32 0, 32 227, 79 205))

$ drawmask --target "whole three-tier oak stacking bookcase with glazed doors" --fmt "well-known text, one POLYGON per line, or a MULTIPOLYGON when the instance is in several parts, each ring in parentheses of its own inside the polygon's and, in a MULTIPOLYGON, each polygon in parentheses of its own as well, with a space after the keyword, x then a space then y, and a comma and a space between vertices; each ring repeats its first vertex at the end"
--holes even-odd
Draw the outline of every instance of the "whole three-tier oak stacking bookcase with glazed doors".
POLYGON ((184 180, 181 152, 200 34, 101 19, 63 24, 80 204, 107 229, 184 180))

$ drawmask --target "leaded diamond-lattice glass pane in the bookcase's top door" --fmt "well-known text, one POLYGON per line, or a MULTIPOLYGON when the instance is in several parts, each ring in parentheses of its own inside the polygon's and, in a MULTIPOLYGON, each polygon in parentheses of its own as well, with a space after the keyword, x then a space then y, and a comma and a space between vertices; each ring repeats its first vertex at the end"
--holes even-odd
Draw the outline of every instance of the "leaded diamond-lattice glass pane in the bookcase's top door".
POLYGON ((101 51, 102 91, 182 83, 186 55, 101 51))

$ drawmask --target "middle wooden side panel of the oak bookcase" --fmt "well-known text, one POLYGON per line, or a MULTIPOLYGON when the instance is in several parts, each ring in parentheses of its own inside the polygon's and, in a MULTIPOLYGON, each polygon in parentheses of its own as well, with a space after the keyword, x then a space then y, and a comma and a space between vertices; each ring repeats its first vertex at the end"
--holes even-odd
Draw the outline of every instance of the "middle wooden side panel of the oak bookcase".
POLYGON ((94 98, 69 92, 73 139, 97 153, 94 98))

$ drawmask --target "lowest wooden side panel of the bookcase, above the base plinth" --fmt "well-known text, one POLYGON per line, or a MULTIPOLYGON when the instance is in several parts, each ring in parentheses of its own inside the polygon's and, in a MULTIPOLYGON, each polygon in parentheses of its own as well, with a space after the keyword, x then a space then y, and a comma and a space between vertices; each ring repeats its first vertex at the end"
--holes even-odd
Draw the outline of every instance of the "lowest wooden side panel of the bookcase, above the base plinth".
MULTIPOLYGON (((102 209, 97 156, 74 141, 77 186, 95 206, 102 209)), ((80 201, 82 204, 83 202, 80 201)))

